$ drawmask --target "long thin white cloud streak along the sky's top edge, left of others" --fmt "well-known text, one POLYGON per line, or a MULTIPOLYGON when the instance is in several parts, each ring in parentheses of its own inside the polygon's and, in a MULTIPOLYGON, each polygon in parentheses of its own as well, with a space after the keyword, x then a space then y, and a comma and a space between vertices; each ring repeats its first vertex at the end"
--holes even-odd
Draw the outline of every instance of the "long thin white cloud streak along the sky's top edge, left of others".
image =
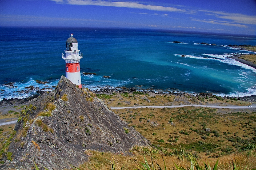
POLYGON ((101 0, 51 0, 57 3, 67 3, 71 5, 96 5, 96 6, 113 6, 113 7, 126 7, 126 8, 138 8, 154 11, 168 11, 168 12, 185 12, 191 13, 185 9, 178 9, 174 7, 164 7, 157 5, 145 5, 138 2, 113 2, 113 1, 101 1, 101 0))

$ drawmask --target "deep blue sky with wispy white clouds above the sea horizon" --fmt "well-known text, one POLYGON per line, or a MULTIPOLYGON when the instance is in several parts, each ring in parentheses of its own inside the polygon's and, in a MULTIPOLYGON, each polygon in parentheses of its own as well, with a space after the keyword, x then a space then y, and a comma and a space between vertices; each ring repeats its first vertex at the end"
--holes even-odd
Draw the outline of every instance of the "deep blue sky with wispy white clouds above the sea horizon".
POLYGON ((256 35, 256 0, 0 2, 0 26, 145 28, 256 35))

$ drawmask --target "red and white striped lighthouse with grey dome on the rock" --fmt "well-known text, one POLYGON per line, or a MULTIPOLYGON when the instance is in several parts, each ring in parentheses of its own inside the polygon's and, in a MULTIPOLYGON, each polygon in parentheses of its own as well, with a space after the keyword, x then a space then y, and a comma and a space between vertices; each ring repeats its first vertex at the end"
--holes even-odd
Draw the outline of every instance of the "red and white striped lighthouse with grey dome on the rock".
POLYGON ((73 34, 70 35, 71 37, 66 41, 65 54, 62 53, 62 58, 66 62, 66 78, 79 88, 82 88, 79 61, 83 58, 83 53, 78 50, 77 39, 73 37, 73 34))

